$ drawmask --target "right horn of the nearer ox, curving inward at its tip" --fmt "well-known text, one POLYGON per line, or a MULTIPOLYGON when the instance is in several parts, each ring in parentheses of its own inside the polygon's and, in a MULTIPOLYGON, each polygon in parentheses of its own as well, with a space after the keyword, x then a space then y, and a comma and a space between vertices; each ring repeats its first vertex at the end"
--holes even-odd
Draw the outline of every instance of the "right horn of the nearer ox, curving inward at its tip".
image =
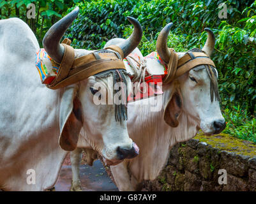
POLYGON ((127 18, 134 27, 132 35, 123 43, 117 45, 121 50, 123 50, 124 57, 127 57, 128 54, 130 54, 139 45, 143 34, 139 21, 132 17, 127 18))

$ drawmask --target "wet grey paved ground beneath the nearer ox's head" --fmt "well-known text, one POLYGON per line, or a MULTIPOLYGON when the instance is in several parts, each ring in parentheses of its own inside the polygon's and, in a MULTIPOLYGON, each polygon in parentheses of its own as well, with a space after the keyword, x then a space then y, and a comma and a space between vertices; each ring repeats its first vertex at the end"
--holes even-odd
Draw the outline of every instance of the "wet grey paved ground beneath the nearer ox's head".
MULTIPOLYGON (((82 183, 82 191, 118 191, 116 185, 112 182, 109 175, 100 160, 96 160, 93 166, 84 164, 80 165, 80 179, 82 183)), ((72 182, 72 169, 70 165, 70 157, 67 156, 59 179, 55 185, 56 191, 70 191, 72 182)))

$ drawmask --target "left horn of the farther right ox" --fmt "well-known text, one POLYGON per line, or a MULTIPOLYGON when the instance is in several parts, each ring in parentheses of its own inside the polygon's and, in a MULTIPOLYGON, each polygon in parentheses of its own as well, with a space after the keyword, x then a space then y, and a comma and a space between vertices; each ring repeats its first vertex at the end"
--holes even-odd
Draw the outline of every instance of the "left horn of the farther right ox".
POLYGON ((172 25, 172 23, 165 25, 156 41, 156 51, 160 55, 161 59, 167 64, 170 60, 170 50, 167 46, 167 38, 172 25))

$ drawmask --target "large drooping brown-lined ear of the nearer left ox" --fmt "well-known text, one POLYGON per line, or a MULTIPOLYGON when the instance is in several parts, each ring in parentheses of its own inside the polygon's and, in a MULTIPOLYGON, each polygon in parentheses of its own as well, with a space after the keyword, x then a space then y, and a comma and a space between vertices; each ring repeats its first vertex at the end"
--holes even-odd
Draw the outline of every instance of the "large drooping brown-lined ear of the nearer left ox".
POLYGON ((82 105, 77 97, 77 92, 77 85, 66 87, 61 99, 59 146, 66 151, 72 151, 77 148, 79 133, 83 124, 82 105))

